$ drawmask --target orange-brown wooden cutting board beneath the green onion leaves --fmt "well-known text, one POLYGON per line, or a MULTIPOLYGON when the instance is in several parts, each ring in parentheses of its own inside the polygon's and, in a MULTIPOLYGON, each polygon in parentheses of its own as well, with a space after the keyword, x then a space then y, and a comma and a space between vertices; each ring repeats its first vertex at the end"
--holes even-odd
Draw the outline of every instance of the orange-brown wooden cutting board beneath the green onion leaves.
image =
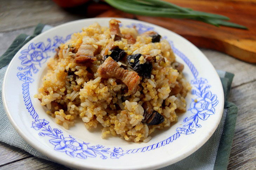
MULTIPOLYGON (((197 47, 218 50, 256 63, 256 0, 166 0, 182 7, 228 16, 248 30, 215 27, 192 20, 132 15, 110 9, 97 17, 127 17, 157 24, 187 38, 197 47)), ((224 59, 224 58, 223 58, 224 59)))

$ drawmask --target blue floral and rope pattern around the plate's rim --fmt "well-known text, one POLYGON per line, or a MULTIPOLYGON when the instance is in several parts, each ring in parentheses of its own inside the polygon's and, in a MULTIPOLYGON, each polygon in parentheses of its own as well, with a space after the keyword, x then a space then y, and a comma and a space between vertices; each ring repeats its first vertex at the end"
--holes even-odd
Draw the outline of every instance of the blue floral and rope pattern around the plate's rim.
MULTIPOLYGON (((126 27, 131 28, 134 26, 136 26, 140 34, 145 31, 154 30, 154 27, 141 23, 132 23, 126 27)), ((129 149, 126 151, 123 151, 123 149, 120 147, 107 148, 100 144, 92 145, 79 139, 75 139, 71 135, 64 137, 62 134, 63 132, 60 129, 52 129, 47 120, 39 119, 39 116, 31 102, 29 84, 34 82, 33 75, 39 71, 42 64, 45 63, 50 57, 48 52, 54 52, 55 48, 59 47, 61 43, 65 43, 67 40, 69 40, 70 36, 71 34, 66 38, 55 36, 53 40, 48 38, 47 45, 45 45, 43 42, 29 44, 27 49, 21 51, 21 55, 19 56, 21 66, 17 68, 17 77, 19 80, 24 82, 22 84, 22 93, 25 106, 34 119, 32 122, 32 128, 40 131, 38 133, 40 136, 47 136, 49 138, 49 142, 54 146, 54 150, 66 153, 70 157, 78 157, 81 159, 86 159, 88 157, 93 158, 97 156, 100 156, 103 160, 107 158, 116 159, 126 154, 134 154, 160 148, 173 142, 182 134, 194 134, 196 132, 196 128, 202 127, 200 124, 198 124, 198 121, 205 121, 210 115, 215 114, 215 107, 218 104, 218 100, 216 94, 212 94, 209 90, 210 85, 208 84, 207 79, 198 77, 198 71, 193 63, 191 63, 191 61, 181 51, 175 48, 172 41, 168 40, 174 53, 187 64, 195 78, 191 80, 191 85, 194 87, 192 90, 194 98, 192 99, 188 109, 188 111, 190 111, 193 115, 186 117, 183 120, 184 125, 182 125, 182 127, 178 127, 174 135, 171 135, 169 138, 158 143, 151 144, 147 147, 129 149)), ((167 39, 167 37, 163 38, 167 39)))

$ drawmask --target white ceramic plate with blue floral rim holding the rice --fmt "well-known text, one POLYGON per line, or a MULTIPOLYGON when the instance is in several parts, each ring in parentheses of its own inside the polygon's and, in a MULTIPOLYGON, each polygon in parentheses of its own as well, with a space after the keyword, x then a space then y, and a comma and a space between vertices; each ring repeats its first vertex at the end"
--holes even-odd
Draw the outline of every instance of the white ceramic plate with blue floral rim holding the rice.
POLYGON ((110 18, 84 19, 54 27, 29 41, 14 56, 5 74, 2 96, 9 120, 32 147, 61 164, 81 169, 156 169, 189 156, 217 128, 224 105, 220 78, 213 65, 183 37, 154 24, 121 19, 140 33, 155 30, 167 38, 193 89, 187 95, 187 112, 166 130, 157 131, 148 143, 126 142, 118 137, 101 139, 100 128, 89 132, 82 122, 66 130, 45 113, 33 96, 41 86, 47 60, 54 49, 82 27, 110 18), (194 100, 197 99, 197 102, 194 100), (80 154, 83 153, 83 154, 80 154))

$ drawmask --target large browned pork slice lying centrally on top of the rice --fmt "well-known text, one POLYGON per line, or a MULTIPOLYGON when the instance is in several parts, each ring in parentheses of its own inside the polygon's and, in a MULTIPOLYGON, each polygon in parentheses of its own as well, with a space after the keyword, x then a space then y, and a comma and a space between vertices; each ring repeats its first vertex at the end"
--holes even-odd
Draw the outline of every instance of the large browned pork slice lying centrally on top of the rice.
POLYGON ((138 73, 120 68, 117 62, 111 57, 108 57, 104 63, 100 65, 97 72, 102 78, 120 79, 127 85, 129 94, 133 94, 138 90, 140 84, 140 76, 138 76, 138 73))

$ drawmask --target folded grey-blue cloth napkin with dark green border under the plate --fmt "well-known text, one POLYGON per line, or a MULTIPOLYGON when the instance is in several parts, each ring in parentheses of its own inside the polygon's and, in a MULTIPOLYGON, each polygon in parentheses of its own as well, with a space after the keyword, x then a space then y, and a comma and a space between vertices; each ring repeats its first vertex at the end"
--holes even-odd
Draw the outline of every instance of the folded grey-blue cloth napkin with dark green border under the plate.
MULTIPOLYGON (((39 24, 35 28, 33 35, 19 35, 11 44, 11 46, 7 49, 7 51, 0 57, 0 94, 2 94, 2 82, 4 74, 6 72, 7 65, 9 64, 13 56, 16 54, 16 52, 18 52, 18 50, 33 37, 50 28, 52 27, 44 24, 39 24)), ((221 78, 224 90, 225 105, 221 122, 217 127, 215 133, 195 153, 175 164, 161 168, 161 170, 227 169, 231 144, 235 132, 237 116, 236 105, 234 105, 231 102, 228 102, 228 95, 234 74, 224 71, 218 71, 218 75, 221 78)), ((20 137, 20 135, 16 132, 16 130, 9 122, 2 103, 2 96, 0 96, 0 98, 0 141, 10 144, 11 146, 21 148, 36 157, 50 160, 48 157, 42 155, 37 150, 29 146, 29 144, 27 144, 20 137)))

